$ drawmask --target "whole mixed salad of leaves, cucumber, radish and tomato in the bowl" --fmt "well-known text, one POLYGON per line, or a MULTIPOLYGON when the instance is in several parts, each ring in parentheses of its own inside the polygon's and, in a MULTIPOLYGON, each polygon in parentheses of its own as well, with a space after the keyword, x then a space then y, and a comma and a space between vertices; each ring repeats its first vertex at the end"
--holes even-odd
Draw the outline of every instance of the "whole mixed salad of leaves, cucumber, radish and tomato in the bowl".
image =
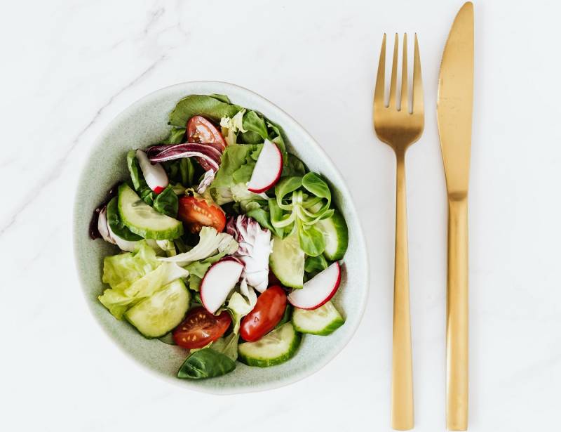
POLYGON ((191 95, 163 142, 123 155, 128 178, 94 212, 99 300, 140 334, 185 349, 183 379, 269 367, 302 334, 344 324, 330 301, 348 244, 329 185, 280 127, 223 95, 191 95))

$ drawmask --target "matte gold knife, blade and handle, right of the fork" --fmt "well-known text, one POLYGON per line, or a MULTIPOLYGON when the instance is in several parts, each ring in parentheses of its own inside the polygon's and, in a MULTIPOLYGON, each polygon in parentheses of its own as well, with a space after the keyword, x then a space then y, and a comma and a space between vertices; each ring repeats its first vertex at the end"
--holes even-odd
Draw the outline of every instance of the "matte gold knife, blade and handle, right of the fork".
POLYGON ((473 4, 461 7, 438 77, 437 118, 448 192, 446 426, 468 428, 468 182, 473 110, 473 4))

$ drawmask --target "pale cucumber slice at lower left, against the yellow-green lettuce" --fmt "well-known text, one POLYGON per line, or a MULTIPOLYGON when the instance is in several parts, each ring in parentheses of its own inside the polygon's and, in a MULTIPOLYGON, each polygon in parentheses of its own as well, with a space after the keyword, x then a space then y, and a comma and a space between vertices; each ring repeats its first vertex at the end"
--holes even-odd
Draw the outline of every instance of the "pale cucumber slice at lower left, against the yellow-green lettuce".
POLYGON ((147 338, 161 337, 180 324, 190 301, 187 287, 177 279, 127 310, 125 318, 147 338))

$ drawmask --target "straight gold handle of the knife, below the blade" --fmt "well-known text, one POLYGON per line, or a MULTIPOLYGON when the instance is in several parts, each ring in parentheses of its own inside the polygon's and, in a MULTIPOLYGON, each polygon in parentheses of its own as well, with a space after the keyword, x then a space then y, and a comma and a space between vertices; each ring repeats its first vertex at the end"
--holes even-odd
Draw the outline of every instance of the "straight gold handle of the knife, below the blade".
POLYGON ((446 426, 468 428, 468 199, 448 199, 446 426))

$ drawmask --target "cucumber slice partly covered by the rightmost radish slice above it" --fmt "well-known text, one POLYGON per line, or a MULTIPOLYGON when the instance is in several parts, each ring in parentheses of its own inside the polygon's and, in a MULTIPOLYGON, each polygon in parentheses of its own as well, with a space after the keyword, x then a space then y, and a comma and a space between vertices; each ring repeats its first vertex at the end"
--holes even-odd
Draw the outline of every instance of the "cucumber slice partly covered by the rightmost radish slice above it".
POLYGON ((294 308, 292 313, 292 324, 297 332, 302 333, 326 336, 344 323, 344 318, 330 301, 313 310, 294 308))

